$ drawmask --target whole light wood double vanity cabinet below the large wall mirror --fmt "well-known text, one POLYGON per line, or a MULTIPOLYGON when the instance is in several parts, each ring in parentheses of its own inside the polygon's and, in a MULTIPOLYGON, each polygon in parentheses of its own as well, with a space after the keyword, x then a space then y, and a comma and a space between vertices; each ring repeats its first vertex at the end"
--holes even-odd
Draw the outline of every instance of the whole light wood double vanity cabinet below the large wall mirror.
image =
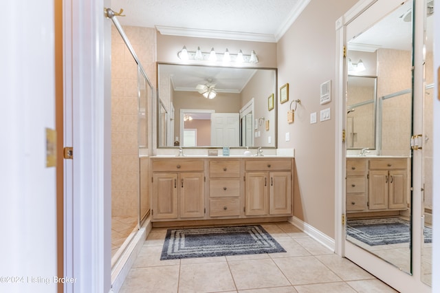
POLYGON ((150 166, 155 224, 283 221, 292 216, 292 157, 158 156, 150 166))

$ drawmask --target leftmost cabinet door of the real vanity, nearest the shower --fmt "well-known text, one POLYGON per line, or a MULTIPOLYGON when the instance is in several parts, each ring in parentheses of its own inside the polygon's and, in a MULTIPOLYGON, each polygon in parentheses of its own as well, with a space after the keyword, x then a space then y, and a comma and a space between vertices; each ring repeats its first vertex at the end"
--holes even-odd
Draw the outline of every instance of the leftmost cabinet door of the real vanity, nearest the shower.
POLYGON ((177 219, 177 173, 153 173, 153 219, 177 219))

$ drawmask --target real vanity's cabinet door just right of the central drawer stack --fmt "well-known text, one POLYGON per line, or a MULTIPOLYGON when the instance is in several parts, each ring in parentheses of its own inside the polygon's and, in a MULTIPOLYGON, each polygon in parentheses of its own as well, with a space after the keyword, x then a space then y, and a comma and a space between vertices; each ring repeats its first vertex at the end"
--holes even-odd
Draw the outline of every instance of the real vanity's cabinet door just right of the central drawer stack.
POLYGON ((267 172, 246 173, 245 215, 267 215, 269 213, 267 176, 267 172))

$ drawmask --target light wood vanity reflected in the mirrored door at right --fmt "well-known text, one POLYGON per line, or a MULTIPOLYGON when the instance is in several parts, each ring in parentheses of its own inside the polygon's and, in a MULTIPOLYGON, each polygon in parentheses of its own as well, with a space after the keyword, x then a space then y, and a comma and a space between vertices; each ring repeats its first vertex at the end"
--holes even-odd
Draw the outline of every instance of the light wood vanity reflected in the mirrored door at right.
POLYGON ((347 213, 408 209, 409 158, 347 158, 347 213))

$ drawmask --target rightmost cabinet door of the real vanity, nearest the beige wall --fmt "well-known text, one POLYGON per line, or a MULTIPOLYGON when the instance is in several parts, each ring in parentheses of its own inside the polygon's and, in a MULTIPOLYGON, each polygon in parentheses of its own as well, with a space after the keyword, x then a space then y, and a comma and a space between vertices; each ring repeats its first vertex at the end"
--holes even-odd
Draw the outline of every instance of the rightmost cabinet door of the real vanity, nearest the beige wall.
POLYGON ((292 214, 292 172, 270 172, 270 215, 292 214))

